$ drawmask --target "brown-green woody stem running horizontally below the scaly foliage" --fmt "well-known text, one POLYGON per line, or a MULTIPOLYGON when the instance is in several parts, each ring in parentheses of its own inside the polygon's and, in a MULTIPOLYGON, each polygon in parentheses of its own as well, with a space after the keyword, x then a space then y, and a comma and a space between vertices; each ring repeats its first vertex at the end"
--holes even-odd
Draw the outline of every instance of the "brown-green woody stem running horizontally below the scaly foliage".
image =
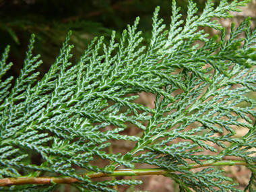
MULTIPOLYGON (((243 165, 247 166, 245 160, 222 160, 219 162, 205 162, 203 164, 189 164, 189 166, 181 166, 183 170, 190 170, 192 168, 200 168, 205 166, 234 166, 243 165)), ((139 175, 152 175, 152 174, 168 174, 173 172, 173 170, 166 170, 162 168, 140 168, 140 169, 120 169, 114 170, 113 173, 106 174, 102 172, 87 172, 83 174, 90 179, 100 178, 100 177, 116 177, 116 176, 139 176, 139 175)), ((5 178, 0 179, 0 187, 10 186, 10 185, 28 185, 28 184, 71 184, 80 182, 78 179, 71 177, 18 177, 18 178, 5 178)))

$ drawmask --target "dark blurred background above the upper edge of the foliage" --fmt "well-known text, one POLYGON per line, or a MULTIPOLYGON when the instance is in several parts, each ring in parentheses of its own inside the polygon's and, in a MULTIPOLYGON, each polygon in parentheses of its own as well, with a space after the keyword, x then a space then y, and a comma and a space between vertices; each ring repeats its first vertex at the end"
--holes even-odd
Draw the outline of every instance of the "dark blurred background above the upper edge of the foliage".
MULTIPOLYGON (((203 9, 205 1, 195 1, 203 9)), ((38 69, 41 77, 48 71, 59 53, 61 42, 69 30, 73 31, 71 44, 73 61, 86 49, 94 36, 105 36, 106 42, 112 30, 120 36, 127 24, 141 18, 139 30, 143 30, 145 43, 149 42, 152 13, 160 5, 160 17, 170 22, 170 0, 0 0, 0 51, 11 46, 9 61, 14 65, 9 75, 17 76, 23 66, 30 35, 36 34, 34 54, 40 54, 44 63, 38 69)), ((187 1, 177 1, 181 13, 187 11, 187 1)))

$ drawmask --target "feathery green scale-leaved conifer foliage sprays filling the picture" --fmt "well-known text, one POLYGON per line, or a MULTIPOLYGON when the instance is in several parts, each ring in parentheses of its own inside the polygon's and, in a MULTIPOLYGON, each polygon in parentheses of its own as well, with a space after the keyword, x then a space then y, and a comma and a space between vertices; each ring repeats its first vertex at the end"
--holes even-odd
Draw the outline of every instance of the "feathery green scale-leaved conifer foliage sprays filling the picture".
MULTIPOLYGON (((168 171, 165 176, 181 191, 240 191, 220 170, 191 170, 193 165, 237 157, 251 170, 245 190, 255 191, 256 101, 247 94, 256 91, 256 30, 251 30, 248 18, 238 28, 232 24, 226 40, 224 28, 212 20, 231 18, 228 11, 240 11, 238 7, 248 2, 223 0, 214 6, 207 1, 197 15, 196 4, 189 1, 183 21, 172 1, 169 30, 156 8, 149 46, 141 45, 137 18, 118 43, 115 32, 108 46, 103 37, 94 38, 77 63, 69 62, 69 32, 55 63, 40 80, 36 68, 42 61, 40 55, 32 55, 32 35, 24 67, 11 89, 12 77, 3 79, 12 65, 7 64, 7 46, 0 63, 0 177, 65 176, 79 180, 72 185, 81 191, 116 191, 111 186, 141 182, 94 182, 89 173, 113 174, 118 166, 133 169, 140 163, 168 171), (207 38, 201 27, 219 30, 221 38, 207 38), (139 92, 156 96, 154 108, 135 102, 139 92), (125 135, 128 125, 140 129, 141 135, 125 135), (237 129, 245 134, 236 134, 237 129), (108 153, 113 140, 133 141, 135 147, 127 154, 108 153), (203 155, 207 151, 211 155, 203 155), (40 162, 32 162, 34 154, 40 162), (95 166, 96 157, 109 164, 95 166)), ((0 189, 57 187, 52 181, 0 189)))

